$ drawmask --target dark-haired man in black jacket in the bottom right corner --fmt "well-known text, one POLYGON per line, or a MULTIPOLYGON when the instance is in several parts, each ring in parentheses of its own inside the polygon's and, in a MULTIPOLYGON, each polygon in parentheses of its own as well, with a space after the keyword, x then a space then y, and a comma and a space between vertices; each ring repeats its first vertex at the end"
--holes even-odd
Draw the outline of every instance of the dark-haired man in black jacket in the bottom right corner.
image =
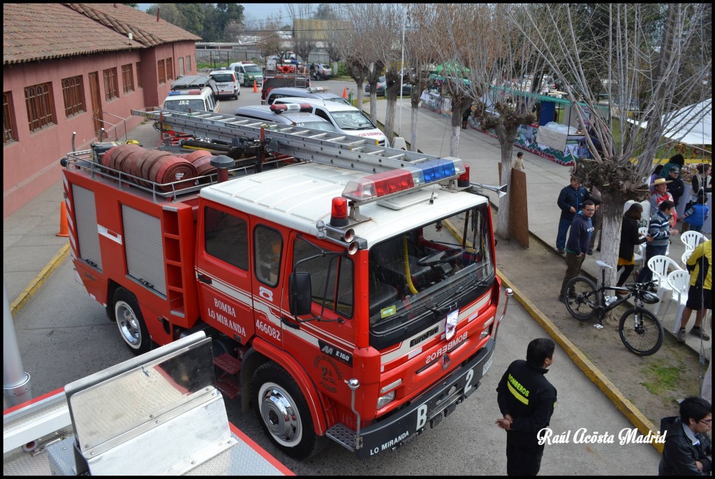
POLYGON ((710 475, 713 452, 707 432, 712 420, 712 405, 702 397, 686 397, 680 418, 661 419, 666 443, 658 475, 710 475))

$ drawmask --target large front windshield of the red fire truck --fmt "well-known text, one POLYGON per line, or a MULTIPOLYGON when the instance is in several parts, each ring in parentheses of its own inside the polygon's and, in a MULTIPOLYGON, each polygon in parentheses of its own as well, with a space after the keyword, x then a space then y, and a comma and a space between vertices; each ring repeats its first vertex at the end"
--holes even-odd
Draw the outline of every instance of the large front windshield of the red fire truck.
POLYGON ((482 204, 370 248, 370 345, 404 340, 493 285, 490 224, 482 204))

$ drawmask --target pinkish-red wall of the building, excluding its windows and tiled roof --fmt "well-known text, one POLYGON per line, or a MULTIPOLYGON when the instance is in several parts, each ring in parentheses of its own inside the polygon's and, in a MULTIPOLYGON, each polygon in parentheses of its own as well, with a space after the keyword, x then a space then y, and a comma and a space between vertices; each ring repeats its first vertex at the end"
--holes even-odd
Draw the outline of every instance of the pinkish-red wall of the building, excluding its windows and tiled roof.
POLYGON ((97 140, 92 121, 89 73, 97 71, 99 99, 104 112, 104 122, 108 122, 104 124, 104 128, 107 129, 109 139, 124 139, 126 130, 142 122, 142 117, 132 117, 129 111, 157 106, 169 91, 170 80, 164 84, 158 83, 157 60, 172 58, 176 78, 179 74, 179 56, 184 58, 184 74, 195 74, 197 69, 193 41, 113 54, 102 53, 3 66, 3 92, 11 92, 11 112, 17 137, 16 141, 3 145, 3 218, 61 178, 59 159, 71 150, 72 132, 77 132, 77 149, 87 149, 90 142, 97 140), (187 56, 191 60, 190 70, 186 69, 187 56), (142 76, 142 88, 139 88, 137 82, 137 61, 141 61, 139 74, 142 76), (133 65, 134 92, 124 94, 122 65, 129 63, 133 65), (112 67, 117 69, 119 97, 107 101, 103 70, 112 67), (68 118, 64 112, 61 80, 78 75, 82 75, 84 85, 85 111, 68 118), (48 82, 51 84, 55 123, 31 132, 24 89, 48 82), (126 119, 126 127, 121 118, 126 119), (116 124, 117 127, 112 127, 109 123, 116 124))

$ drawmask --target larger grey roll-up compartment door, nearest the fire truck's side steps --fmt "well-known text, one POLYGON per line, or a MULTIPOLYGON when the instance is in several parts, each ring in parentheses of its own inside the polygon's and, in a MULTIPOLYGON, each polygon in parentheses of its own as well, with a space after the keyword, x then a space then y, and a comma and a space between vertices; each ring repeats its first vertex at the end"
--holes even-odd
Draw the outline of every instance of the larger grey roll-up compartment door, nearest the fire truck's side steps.
POLYGON ((129 276, 166 295, 161 220, 122 204, 122 222, 129 276))

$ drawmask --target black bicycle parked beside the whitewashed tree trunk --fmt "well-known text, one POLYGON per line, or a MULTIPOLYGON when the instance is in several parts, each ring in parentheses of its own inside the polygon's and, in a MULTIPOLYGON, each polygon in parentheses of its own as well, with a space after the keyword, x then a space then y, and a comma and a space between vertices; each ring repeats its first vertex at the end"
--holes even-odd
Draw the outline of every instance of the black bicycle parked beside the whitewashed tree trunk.
POLYGON ((657 295, 649 289, 655 281, 644 283, 633 283, 632 285, 604 286, 606 279, 606 268, 613 269, 603 261, 597 261, 601 267, 601 286, 596 287, 593 281, 587 277, 577 276, 566 283, 563 289, 563 297, 566 298, 566 309, 579 321, 588 321, 594 315, 598 315, 598 326, 603 327, 603 318, 606 312, 613 310, 624 301, 633 297, 633 304, 623 313, 621 321, 618 323, 618 334, 621 336, 623 345, 629 351, 639 356, 650 356, 655 354, 663 345, 663 325, 649 310, 643 306, 653 305, 659 301, 657 295), (605 295, 605 292, 613 291, 613 296, 605 295), (626 292, 626 295, 617 297, 616 291, 626 292))

